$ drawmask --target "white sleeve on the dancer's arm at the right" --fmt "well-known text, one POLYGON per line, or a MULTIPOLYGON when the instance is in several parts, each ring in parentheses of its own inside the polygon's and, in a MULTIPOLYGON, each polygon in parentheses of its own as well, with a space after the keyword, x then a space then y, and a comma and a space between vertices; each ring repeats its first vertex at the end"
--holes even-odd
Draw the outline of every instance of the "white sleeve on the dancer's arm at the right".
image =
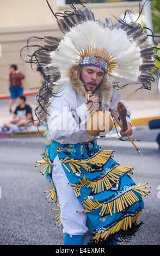
MULTIPOLYGON (((117 92, 117 90, 113 89, 113 96, 112 96, 112 101, 110 103, 110 109, 112 109, 112 111, 114 112, 116 117, 121 122, 119 113, 117 111, 117 106, 118 106, 119 102, 122 102, 125 105, 124 100, 121 100, 121 95, 117 92)), ((130 123, 132 125, 132 122, 131 122, 131 110, 130 110, 130 108, 128 106, 125 105, 125 107, 127 109, 127 115, 126 115, 127 123, 130 123)))

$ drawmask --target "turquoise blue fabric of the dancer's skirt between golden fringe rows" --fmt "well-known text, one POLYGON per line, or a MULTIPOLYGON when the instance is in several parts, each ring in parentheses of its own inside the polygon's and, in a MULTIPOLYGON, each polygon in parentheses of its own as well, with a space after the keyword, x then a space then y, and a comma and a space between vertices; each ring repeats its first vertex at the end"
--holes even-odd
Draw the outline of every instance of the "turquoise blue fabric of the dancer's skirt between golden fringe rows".
MULTIPOLYGON (((50 148, 50 159, 51 161, 54 161, 55 157, 58 155, 60 160, 64 160, 67 156, 69 157, 67 160, 86 160, 88 159, 88 157, 93 157, 101 150, 99 145, 97 145, 96 141, 94 141, 93 144, 89 145, 89 147, 93 147, 93 149, 90 150, 92 154, 90 156, 89 150, 87 149, 87 145, 85 144, 78 143, 75 145, 62 145, 56 141, 53 141, 50 148), (60 148, 60 152, 56 150, 57 148, 60 148), (70 151, 68 151, 67 149, 70 149, 70 151)), ((91 164, 88 165, 91 166, 91 164)), ((104 175, 105 173, 109 173, 110 169, 112 169, 116 165, 118 165, 118 163, 115 160, 113 160, 112 157, 110 157, 110 159, 102 166, 102 168, 95 169, 95 172, 87 172, 87 170, 81 167, 82 173, 74 174, 67 163, 66 166, 71 170, 70 173, 62 164, 64 168, 64 173, 71 184, 81 184, 79 183, 79 179, 82 180, 84 174, 85 178, 89 181, 100 179, 102 175, 104 175)), ((47 173, 47 179, 51 180, 51 175, 47 173)), ((93 192, 91 192, 92 188, 87 188, 87 186, 83 186, 81 188, 81 197, 78 197, 77 200, 79 200, 79 202, 82 203, 82 201, 84 201, 88 197, 93 202, 95 202, 96 199, 101 204, 108 203, 120 197, 125 192, 131 191, 132 188, 134 188, 135 186, 136 184, 131 179, 130 175, 128 175, 128 173, 125 173, 123 176, 119 176, 118 181, 115 184, 113 184, 113 186, 108 190, 105 189, 104 192, 101 191, 100 193, 94 194, 93 192)), ((113 215, 108 214, 107 216, 103 217, 99 215, 101 208, 94 209, 88 212, 87 217, 89 221, 87 221, 86 225, 88 229, 91 230, 92 234, 94 235, 97 232, 106 231, 123 218, 127 216, 133 217, 139 211, 141 211, 144 208, 144 202, 138 192, 134 191, 134 194, 139 200, 133 203, 132 205, 128 205, 128 207, 121 212, 116 211, 113 215)), ((118 234, 115 234, 115 237, 118 237, 118 234)), ((117 242, 115 241, 114 244, 117 244, 117 242)))

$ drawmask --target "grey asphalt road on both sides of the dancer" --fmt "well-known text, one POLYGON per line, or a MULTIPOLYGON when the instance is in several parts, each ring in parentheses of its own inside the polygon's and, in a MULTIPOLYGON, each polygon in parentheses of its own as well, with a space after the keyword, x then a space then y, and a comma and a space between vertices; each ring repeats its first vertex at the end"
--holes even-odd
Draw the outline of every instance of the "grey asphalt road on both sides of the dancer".
MULTIPOLYGON (((99 139, 104 149, 114 149, 114 159, 120 164, 133 166, 136 184, 149 183, 151 193, 144 197, 145 209, 139 222, 139 233, 129 242, 120 245, 160 244, 160 150, 155 142, 160 130, 147 126, 134 130, 133 139, 143 157, 131 142, 121 142, 111 134, 99 139), (158 194, 159 192, 159 194, 158 194)), ((54 204, 45 200, 44 191, 50 189, 35 161, 44 153, 41 137, 0 139, 0 245, 63 245, 63 228, 54 224, 54 204)))

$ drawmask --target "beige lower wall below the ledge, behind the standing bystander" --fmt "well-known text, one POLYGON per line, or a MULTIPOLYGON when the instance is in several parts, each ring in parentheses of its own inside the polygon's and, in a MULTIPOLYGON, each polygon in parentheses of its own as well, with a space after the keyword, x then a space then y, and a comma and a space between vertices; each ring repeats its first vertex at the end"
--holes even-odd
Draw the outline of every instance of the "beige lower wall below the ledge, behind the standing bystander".
MULTIPOLYGON (((25 90, 38 89, 41 86, 40 78, 36 72, 30 68, 29 63, 25 63, 20 57, 20 50, 26 46, 27 39, 30 36, 44 37, 45 35, 61 36, 57 25, 34 26, 34 27, 17 27, 1 29, 0 44, 2 46, 2 57, 0 58, 0 94, 8 93, 8 82, 5 81, 10 64, 17 64, 19 70, 26 75, 25 90)), ((43 40, 33 39, 30 44, 43 45, 43 40)), ((27 51, 22 52, 22 57, 27 60, 27 51)), ((36 65, 33 65, 36 71, 36 65)))

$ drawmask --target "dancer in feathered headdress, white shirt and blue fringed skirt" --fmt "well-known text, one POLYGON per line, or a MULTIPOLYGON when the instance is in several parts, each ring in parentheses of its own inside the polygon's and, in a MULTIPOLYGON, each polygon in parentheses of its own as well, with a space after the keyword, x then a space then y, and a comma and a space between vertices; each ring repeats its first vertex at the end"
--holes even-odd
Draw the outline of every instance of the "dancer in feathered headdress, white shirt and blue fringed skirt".
POLYGON ((50 147, 38 166, 47 164, 41 173, 53 188, 47 191, 49 202, 58 196, 55 218, 63 225, 64 245, 116 245, 139 230, 141 196, 149 191, 137 186, 129 175, 133 168, 113 160, 113 150, 101 149, 96 138, 112 129, 110 110, 121 121, 121 137, 132 135, 130 108, 114 86, 138 83, 150 89, 153 49, 138 23, 113 25, 110 19, 96 20, 84 5, 71 7, 64 14, 52 10, 64 36, 45 36, 45 46, 30 59, 46 66, 35 114, 48 127, 50 147), (108 118, 102 130, 100 116, 108 118), (91 121, 96 129, 88 129, 91 121))

